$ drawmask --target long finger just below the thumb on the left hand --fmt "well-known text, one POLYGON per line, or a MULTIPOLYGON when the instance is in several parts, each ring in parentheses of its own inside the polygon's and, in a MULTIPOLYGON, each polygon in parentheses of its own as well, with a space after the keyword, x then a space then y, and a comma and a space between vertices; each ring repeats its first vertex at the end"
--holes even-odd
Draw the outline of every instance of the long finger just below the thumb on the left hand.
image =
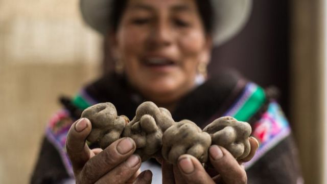
MULTIPOLYGON (((135 149, 135 142, 130 137, 125 137, 113 142, 106 149, 85 163, 79 179, 87 183, 96 182, 110 170, 129 158, 135 149)), ((136 170, 133 173, 135 173, 136 170)), ((127 179, 128 178, 129 177, 127 177, 127 179)))

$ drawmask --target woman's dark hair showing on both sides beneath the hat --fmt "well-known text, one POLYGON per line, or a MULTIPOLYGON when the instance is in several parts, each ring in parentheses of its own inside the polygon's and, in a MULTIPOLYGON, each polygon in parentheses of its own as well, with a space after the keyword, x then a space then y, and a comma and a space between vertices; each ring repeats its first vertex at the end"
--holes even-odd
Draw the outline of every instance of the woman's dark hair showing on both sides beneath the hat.
MULTIPOLYGON (((214 11, 209 0, 195 0, 206 34, 214 29, 214 11)), ((125 11, 127 0, 114 0, 111 5, 110 29, 116 32, 125 11)))

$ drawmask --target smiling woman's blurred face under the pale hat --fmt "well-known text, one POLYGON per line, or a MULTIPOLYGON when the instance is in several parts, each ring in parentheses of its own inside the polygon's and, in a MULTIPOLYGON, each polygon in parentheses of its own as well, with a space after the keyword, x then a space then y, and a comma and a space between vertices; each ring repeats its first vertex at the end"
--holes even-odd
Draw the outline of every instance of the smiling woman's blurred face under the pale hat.
POLYGON ((194 0, 129 0, 112 47, 131 85, 163 105, 194 87, 211 39, 194 0))

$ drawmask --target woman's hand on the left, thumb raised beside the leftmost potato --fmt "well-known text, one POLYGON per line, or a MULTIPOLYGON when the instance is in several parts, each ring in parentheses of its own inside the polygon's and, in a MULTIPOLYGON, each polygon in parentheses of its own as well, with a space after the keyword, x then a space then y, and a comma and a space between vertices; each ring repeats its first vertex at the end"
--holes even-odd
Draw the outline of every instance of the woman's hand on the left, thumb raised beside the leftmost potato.
POLYGON ((82 118, 69 129, 66 149, 71 159, 76 183, 151 183, 151 171, 139 174, 141 158, 133 155, 135 142, 126 137, 106 149, 90 150, 86 137, 91 123, 82 118))

